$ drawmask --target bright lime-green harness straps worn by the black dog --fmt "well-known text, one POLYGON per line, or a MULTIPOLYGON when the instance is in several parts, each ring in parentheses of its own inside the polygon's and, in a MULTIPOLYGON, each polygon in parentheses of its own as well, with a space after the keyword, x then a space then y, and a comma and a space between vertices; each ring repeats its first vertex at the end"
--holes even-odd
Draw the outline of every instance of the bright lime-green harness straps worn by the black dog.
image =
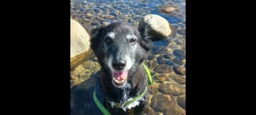
MULTIPOLYGON (((149 72, 149 68, 146 67, 146 65, 144 65, 144 63, 142 63, 142 65, 143 65, 144 69, 146 70, 147 76, 149 77, 149 79, 148 79, 149 85, 153 84, 154 81, 152 80, 151 74, 150 74, 150 72, 149 72)), ((144 92, 142 92, 142 94, 139 94, 138 97, 135 97, 135 98, 132 99, 131 101, 125 102, 125 103, 124 103, 124 106, 128 106, 129 104, 132 104, 133 102, 136 102, 136 101, 138 101, 139 99, 141 99, 141 98, 144 96, 144 94, 146 94, 146 90, 147 90, 147 87, 145 88, 144 92)), ((94 100, 95 104, 97 105, 97 107, 100 109, 100 111, 102 111, 103 114, 105 114, 105 115, 111 115, 110 112, 107 111, 107 109, 105 109, 105 107, 100 103, 99 99, 97 99, 95 90, 94 90, 94 92, 93 92, 93 100, 94 100)), ((114 106, 117 107, 117 108, 121 108, 120 105, 119 105, 119 103, 114 103, 114 106)))

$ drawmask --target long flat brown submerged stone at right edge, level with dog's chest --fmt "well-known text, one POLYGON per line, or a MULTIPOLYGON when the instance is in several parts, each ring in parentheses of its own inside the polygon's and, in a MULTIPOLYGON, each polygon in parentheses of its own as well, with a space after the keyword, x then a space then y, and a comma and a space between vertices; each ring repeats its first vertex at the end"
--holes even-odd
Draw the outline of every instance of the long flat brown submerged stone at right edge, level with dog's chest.
POLYGON ((171 94, 174 96, 179 96, 181 94, 185 94, 185 87, 180 84, 159 84, 159 92, 163 94, 171 94))

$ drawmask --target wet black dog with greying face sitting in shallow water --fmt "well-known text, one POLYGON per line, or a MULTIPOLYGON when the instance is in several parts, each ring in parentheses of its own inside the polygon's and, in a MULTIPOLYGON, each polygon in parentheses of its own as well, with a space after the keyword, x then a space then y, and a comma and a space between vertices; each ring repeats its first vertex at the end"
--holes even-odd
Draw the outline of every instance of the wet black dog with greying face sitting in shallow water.
POLYGON ((148 76, 142 62, 153 47, 146 31, 146 26, 138 29, 126 23, 111 23, 92 30, 91 49, 101 70, 90 77, 90 80, 97 81, 93 87, 80 86, 76 89, 73 96, 76 114, 104 114, 92 96, 95 90, 97 99, 109 114, 146 114, 148 76))

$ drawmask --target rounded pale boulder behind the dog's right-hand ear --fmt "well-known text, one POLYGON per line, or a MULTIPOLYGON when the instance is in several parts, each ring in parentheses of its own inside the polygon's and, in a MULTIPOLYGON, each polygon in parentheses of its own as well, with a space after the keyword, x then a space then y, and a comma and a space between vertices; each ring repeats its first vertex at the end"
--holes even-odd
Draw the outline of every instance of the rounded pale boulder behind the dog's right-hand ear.
POLYGON ((139 23, 139 29, 141 30, 145 27, 148 30, 147 32, 155 37, 154 39, 166 38, 172 33, 170 23, 165 18, 156 14, 149 14, 142 18, 142 21, 139 23))

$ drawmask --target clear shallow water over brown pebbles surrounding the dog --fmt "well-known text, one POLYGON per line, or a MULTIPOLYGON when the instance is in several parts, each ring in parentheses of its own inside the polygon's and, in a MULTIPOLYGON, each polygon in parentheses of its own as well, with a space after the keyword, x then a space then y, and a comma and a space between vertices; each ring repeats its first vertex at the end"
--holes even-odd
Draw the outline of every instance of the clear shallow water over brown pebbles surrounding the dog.
MULTIPOLYGON (((112 22, 127 22, 132 26, 138 26, 143 16, 149 13, 166 18, 176 31, 176 34, 167 40, 154 42, 154 48, 145 61, 156 82, 149 87, 149 109, 151 114, 186 114, 185 0, 71 0, 70 9, 72 18, 81 23, 87 31, 112 22), (170 6, 176 10, 163 13, 163 6, 170 6)), ((92 54, 70 72, 71 91, 98 70, 100 65, 92 54)))

